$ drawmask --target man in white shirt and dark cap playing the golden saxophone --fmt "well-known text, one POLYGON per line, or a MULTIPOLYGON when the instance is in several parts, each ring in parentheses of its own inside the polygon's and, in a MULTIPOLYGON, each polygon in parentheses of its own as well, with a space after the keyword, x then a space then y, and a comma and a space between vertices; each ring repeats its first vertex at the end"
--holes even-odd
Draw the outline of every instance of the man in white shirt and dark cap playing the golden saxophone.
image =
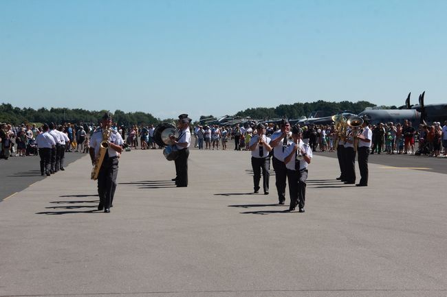
POLYGON ((122 152, 122 145, 124 144, 121 134, 110 128, 111 123, 110 113, 105 112, 101 119, 101 128, 97 129, 91 136, 89 150, 91 163, 95 165, 99 156, 101 142, 108 134, 107 139, 104 139, 107 141, 108 146, 98 174, 98 211, 104 209, 105 213, 110 213, 110 208, 113 203, 113 195, 115 195, 116 190, 116 177, 118 176, 118 158, 122 152))

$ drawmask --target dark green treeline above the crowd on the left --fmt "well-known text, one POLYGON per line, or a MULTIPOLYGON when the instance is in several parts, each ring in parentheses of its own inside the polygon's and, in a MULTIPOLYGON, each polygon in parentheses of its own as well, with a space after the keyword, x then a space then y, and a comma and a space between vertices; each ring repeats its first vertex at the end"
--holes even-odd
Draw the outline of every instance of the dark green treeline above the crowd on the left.
MULTIPOLYGON (((20 125, 21 123, 98 123, 98 120, 104 115, 106 110, 84 110, 81 108, 18 108, 11 104, 1 104, 0 106, 0 122, 12 123, 20 125)), ((145 112, 123 112, 115 110, 113 113, 113 121, 118 125, 156 125, 161 120, 153 117, 150 113, 145 112)), ((163 121, 171 122, 173 119, 165 119, 163 121)))

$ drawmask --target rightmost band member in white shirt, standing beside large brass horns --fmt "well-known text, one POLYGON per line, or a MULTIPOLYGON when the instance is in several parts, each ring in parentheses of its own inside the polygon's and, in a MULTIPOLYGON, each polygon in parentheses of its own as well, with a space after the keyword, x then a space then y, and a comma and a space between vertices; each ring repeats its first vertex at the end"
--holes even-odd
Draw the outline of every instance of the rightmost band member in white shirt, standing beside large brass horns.
POLYGON ((357 187, 367 187, 368 185, 368 156, 371 150, 373 132, 369 129, 369 118, 363 117, 362 130, 357 135, 358 139, 358 169, 360 170, 360 182, 357 187))

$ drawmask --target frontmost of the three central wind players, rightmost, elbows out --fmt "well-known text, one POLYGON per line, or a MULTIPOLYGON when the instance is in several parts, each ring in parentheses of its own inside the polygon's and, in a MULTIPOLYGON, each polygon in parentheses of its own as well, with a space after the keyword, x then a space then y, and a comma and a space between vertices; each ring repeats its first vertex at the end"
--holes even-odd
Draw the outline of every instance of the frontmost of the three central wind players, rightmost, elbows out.
POLYGON ((284 150, 284 163, 287 167, 287 180, 289 182, 290 206, 289 211, 304 213, 306 200, 307 167, 312 160, 312 149, 301 139, 303 130, 294 126, 292 128, 293 143, 284 150))

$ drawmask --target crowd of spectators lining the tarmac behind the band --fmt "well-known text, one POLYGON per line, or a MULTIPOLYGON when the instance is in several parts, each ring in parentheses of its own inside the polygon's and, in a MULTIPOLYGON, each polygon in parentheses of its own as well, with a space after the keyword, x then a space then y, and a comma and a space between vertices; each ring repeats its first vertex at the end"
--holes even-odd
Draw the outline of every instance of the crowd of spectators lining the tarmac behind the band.
MULTIPOLYGON (((65 152, 87 153, 89 139, 94 132, 92 124, 64 123, 60 126, 69 138, 65 152)), ((129 128, 113 124, 125 140, 128 150, 155 150, 161 147, 156 145, 153 134, 154 126, 133 125, 129 128)), ((334 152, 336 150, 336 130, 334 125, 307 125, 303 129, 305 140, 313 152, 334 152)), ((379 123, 370 125, 373 131, 373 145, 371 154, 424 154, 427 156, 440 156, 447 154, 447 121, 444 126, 435 122, 432 125, 420 124, 416 129, 411 122, 379 123), (416 147, 417 143, 417 147, 416 147)), ((279 127, 274 123, 266 126, 267 136, 273 134, 279 127)), ((248 143, 256 132, 254 123, 235 126, 200 125, 191 127, 194 135, 194 147, 199 150, 227 150, 228 141, 234 143, 234 150, 248 150, 248 143)), ((11 156, 35 156, 37 154, 35 140, 41 133, 41 128, 35 124, 12 126, 1 123, 0 129, 0 158, 8 159, 11 156)))

